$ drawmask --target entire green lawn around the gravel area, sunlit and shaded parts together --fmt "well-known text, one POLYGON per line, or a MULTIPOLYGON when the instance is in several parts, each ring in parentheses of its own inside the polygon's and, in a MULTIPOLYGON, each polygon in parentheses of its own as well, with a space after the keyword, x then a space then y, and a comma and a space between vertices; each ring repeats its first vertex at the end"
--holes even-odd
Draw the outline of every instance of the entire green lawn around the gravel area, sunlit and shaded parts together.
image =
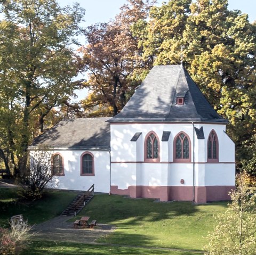
MULTIPOLYGON (((42 200, 30 203, 20 202, 15 189, 0 188, 0 194, 0 225, 7 226, 11 216, 21 213, 30 224, 58 216, 77 192, 49 191, 42 200)), ((226 208, 227 202, 195 205, 98 194, 71 221, 86 215, 98 223, 115 225, 116 231, 97 240, 102 245, 33 241, 23 254, 196 254, 161 248, 202 251, 206 244, 203 236, 213 229, 213 215, 226 208)))

